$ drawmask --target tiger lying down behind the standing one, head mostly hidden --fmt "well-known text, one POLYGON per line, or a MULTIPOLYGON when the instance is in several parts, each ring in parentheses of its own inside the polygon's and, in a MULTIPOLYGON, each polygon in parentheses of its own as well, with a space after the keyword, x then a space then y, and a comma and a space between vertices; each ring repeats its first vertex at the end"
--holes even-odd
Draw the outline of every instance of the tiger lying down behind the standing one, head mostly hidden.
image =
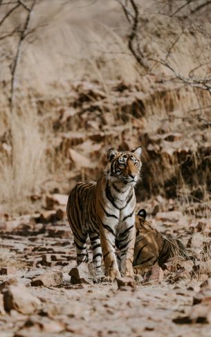
POLYGON ((142 209, 136 215, 136 242, 134 247, 134 274, 144 275, 154 264, 163 266, 170 257, 190 259, 179 239, 167 239, 146 221, 142 209))

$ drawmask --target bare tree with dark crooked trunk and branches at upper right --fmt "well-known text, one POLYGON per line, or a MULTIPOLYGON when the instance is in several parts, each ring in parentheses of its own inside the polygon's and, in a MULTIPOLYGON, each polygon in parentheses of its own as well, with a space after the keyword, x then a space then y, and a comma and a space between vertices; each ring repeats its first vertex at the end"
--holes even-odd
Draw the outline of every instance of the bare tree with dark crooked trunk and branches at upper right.
MULTIPOLYGON (((172 1, 172 0, 161 0, 154 3, 154 15, 162 15, 169 18, 174 18, 178 27, 181 28, 181 33, 176 35, 174 42, 167 48, 165 57, 146 57, 143 53, 143 50, 140 46, 140 41, 143 33, 143 26, 141 22, 144 21, 143 17, 140 15, 140 8, 138 6, 137 0, 117 0, 120 3, 122 10, 125 14, 125 17, 129 23, 129 35, 128 35, 128 47, 132 55, 134 55, 136 61, 140 66, 142 66, 149 73, 152 71, 152 63, 158 63, 162 66, 165 66, 166 69, 169 69, 172 73, 171 80, 176 82, 181 82, 187 86, 192 86, 194 88, 203 89, 208 91, 211 94, 211 74, 205 72, 203 78, 195 75, 196 71, 202 69, 204 66, 209 66, 205 64, 205 61, 199 58, 198 66, 194 66, 194 69, 191 69, 188 76, 180 73, 174 64, 171 62, 171 55, 174 47, 178 44, 181 39, 184 31, 189 29, 190 34, 193 31, 196 33, 201 33, 205 37, 210 39, 211 35, 208 31, 203 28, 202 22, 204 18, 204 12, 202 20, 200 21, 200 11, 210 8, 211 1, 199 1, 199 0, 186 0, 186 1, 172 1), (197 17, 195 15, 198 15, 197 17), (185 21, 184 21, 185 20, 185 21)), ((150 13, 152 14, 152 12, 150 13)), ((171 33, 171 32, 169 32, 171 33)), ((175 35, 175 32, 172 32, 172 36, 175 35)), ((153 35, 152 35, 153 39, 153 35)), ((203 50, 203 45, 201 45, 201 51, 203 50)), ((169 79, 168 79, 169 80, 169 79)))

